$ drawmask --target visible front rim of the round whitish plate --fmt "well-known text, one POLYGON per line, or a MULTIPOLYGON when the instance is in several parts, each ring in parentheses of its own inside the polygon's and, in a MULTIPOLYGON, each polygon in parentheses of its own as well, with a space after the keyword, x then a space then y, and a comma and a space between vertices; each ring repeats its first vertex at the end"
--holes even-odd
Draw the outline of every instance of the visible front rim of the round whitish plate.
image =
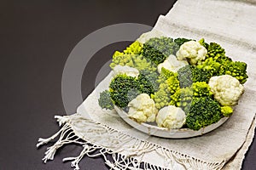
POLYGON ((189 128, 179 128, 179 129, 168 129, 165 127, 158 127, 156 123, 138 123, 133 121, 127 116, 127 113, 123 110, 121 110, 119 107, 114 106, 115 111, 118 112, 119 116, 128 124, 131 125, 131 127, 137 128, 137 130, 148 133, 149 135, 168 138, 168 139, 184 139, 184 138, 191 138, 195 136, 200 136, 204 133, 211 132, 215 128, 222 125, 226 120, 228 120, 229 117, 224 117, 220 119, 218 122, 213 123, 212 125, 209 125, 207 127, 202 127, 198 131, 189 129, 189 128))

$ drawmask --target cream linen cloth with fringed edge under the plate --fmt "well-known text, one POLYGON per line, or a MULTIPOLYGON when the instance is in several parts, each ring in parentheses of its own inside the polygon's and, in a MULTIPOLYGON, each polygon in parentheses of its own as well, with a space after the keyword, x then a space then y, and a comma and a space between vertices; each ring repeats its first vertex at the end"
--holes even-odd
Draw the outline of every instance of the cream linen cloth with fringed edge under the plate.
MULTIPOLYGON (((79 169, 82 156, 90 156, 91 150, 102 150, 100 155, 112 169, 140 169, 142 161, 144 169, 240 169, 256 124, 255 16, 253 0, 178 0, 166 16, 160 15, 152 31, 138 38, 145 42, 160 36, 196 40, 204 37, 206 42, 221 44, 232 59, 247 63, 249 78, 244 84, 245 93, 234 114, 221 127, 191 139, 162 139, 141 133, 126 124, 115 111, 104 111, 97 105, 99 93, 108 88, 110 72, 79 106, 77 114, 57 116, 64 127, 56 135, 71 130, 85 141, 81 154, 65 161, 73 160, 73 167, 79 169), (106 159, 106 154, 113 155, 113 162, 106 159)), ((38 145, 56 135, 39 139, 38 145)), ((73 140, 65 139, 63 134, 58 142, 49 148, 44 161, 53 159, 56 149, 73 140)))

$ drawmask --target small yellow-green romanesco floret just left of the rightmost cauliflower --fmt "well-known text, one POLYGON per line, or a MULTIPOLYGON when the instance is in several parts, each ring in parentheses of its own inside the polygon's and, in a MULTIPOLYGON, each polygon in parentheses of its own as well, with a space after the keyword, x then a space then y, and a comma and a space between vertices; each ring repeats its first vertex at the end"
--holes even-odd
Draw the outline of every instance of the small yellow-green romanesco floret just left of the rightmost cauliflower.
POLYGON ((212 97, 211 88, 207 82, 194 82, 192 84, 192 90, 194 97, 212 97))

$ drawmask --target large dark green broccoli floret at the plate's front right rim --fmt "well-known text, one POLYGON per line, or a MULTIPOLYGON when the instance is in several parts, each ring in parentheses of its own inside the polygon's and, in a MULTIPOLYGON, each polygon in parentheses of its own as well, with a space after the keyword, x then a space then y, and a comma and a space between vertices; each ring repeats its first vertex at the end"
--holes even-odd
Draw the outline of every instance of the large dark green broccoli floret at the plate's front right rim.
POLYGON ((212 123, 218 122, 223 117, 220 105, 210 97, 194 98, 186 117, 187 127, 199 130, 212 123))

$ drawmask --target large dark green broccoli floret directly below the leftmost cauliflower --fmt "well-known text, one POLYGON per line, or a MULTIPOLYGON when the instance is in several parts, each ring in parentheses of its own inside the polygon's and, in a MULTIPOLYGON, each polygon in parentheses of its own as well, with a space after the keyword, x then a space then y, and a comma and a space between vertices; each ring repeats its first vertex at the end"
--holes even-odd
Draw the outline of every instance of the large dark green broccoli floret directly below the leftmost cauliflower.
POLYGON ((118 75, 110 82, 109 92, 113 104, 125 108, 131 99, 135 99, 140 94, 137 90, 137 78, 118 75))

